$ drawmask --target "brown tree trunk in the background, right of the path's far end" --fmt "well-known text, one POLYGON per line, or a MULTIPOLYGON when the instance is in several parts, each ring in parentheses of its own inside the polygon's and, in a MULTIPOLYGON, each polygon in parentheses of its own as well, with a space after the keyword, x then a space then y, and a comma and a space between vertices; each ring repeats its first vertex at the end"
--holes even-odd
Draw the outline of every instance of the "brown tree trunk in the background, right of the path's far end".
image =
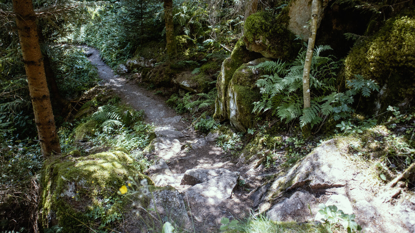
POLYGON ((177 56, 176 41, 174 40, 173 0, 164 0, 164 22, 166 22, 167 58, 172 60, 177 56))

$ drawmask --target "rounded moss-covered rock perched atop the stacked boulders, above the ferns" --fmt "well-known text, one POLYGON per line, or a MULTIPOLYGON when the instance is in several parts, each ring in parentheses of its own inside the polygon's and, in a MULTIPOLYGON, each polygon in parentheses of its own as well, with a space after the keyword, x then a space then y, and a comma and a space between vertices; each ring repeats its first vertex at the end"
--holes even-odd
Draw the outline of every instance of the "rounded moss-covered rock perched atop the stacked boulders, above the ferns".
POLYGON ((286 11, 277 16, 265 11, 250 15, 244 24, 247 49, 266 58, 295 58, 301 45, 294 42, 295 35, 286 28, 287 17, 286 11))

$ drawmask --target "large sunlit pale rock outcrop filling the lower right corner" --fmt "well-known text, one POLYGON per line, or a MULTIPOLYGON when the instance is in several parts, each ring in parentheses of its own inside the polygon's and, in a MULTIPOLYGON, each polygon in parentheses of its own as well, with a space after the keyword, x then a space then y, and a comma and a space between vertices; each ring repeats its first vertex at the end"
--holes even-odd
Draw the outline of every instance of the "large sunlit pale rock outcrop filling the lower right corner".
POLYGON ((345 214, 355 214, 356 222, 367 232, 412 232, 413 192, 404 192, 402 184, 393 187, 394 181, 379 189, 381 184, 373 179, 376 171, 351 159, 349 143, 342 139, 326 141, 290 170, 258 188, 251 196, 258 211, 275 221, 321 221, 325 216, 317 213, 318 205, 325 203, 345 214))

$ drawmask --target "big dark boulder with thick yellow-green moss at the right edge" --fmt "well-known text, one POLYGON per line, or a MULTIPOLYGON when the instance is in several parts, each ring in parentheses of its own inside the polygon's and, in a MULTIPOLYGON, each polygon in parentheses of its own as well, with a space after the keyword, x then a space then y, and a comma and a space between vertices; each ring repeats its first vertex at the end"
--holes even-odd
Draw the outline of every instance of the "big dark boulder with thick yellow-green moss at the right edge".
MULTIPOLYGON (((357 43, 344 61, 347 80, 360 74, 375 80, 381 90, 363 104, 368 113, 388 105, 408 107, 415 97, 415 10, 388 19, 373 36, 357 43)), ((361 101, 362 103, 362 101, 361 101)))

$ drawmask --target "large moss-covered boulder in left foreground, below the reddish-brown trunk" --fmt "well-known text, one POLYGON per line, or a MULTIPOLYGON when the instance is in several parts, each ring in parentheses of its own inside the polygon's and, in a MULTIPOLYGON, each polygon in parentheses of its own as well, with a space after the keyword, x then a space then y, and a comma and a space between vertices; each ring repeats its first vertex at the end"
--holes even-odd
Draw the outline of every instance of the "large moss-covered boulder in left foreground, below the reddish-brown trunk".
MULTIPOLYGON (((47 158, 41 170, 41 200, 39 222, 43 228, 59 225, 62 232, 89 232, 93 218, 87 214, 105 205, 103 199, 114 197, 129 176, 139 174, 149 184, 154 183, 141 174, 132 157, 121 151, 103 152, 72 158, 64 155, 47 158), (83 225, 85 224, 85 225, 83 225)), ((122 209, 122 203, 113 204, 107 211, 122 209)), ((98 224, 99 225, 99 224, 98 224)))

